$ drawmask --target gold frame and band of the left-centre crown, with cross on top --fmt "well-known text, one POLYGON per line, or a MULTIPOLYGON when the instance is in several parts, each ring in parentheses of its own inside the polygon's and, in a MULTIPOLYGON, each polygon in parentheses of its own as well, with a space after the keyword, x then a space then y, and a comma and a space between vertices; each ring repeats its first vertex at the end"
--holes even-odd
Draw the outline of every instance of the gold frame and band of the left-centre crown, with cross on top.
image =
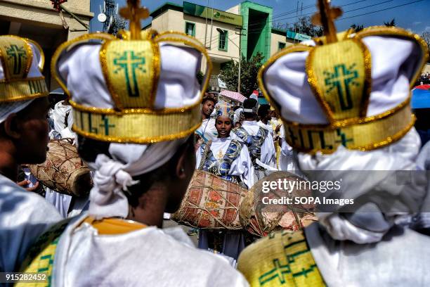
POLYGON ((148 18, 149 11, 140 6, 140 0, 127 2, 128 6, 119 13, 130 21, 129 31, 120 31, 119 37, 104 33, 86 34, 62 44, 53 56, 52 73, 74 108, 72 130, 91 139, 133 144, 171 141, 188 136, 202 123, 200 102, 209 84, 211 72, 211 61, 206 49, 197 39, 187 34, 141 31, 141 20, 148 18), (84 106, 73 101, 73 91, 67 89, 58 73, 58 59, 64 52, 70 51, 77 44, 94 40, 102 42, 99 60, 107 90, 115 104, 112 108, 84 106), (207 59, 200 98, 192 106, 155 108, 162 43, 191 47, 207 59))

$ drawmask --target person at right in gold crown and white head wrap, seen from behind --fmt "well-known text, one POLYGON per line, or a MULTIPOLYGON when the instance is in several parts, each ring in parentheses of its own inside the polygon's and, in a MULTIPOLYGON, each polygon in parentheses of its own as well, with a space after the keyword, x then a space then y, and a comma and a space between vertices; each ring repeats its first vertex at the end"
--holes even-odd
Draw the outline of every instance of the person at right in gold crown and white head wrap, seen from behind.
POLYGON ((314 17, 325 37, 280 51, 259 84, 306 177, 339 181, 313 196, 353 204, 319 205, 318 223, 250 245, 238 269, 252 286, 429 286, 430 238, 400 224, 427 201, 410 110, 426 44, 396 27, 337 34, 328 2, 314 17))

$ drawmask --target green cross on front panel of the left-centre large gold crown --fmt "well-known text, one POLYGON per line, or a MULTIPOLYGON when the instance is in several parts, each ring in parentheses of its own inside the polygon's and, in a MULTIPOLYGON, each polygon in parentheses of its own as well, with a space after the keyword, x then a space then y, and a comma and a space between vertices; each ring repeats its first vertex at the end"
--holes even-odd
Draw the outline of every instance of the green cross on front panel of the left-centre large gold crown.
POLYGON ((134 51, 124 51, 122 56, 113 60, 114 65, 119 66, 115 73, 124 70, 127 84, 127 91, 130 97, 138 97, 139 89, 136 77, 136 70, 146 72, 142 65, 145 65, 145 57, 138 56, 134 51))

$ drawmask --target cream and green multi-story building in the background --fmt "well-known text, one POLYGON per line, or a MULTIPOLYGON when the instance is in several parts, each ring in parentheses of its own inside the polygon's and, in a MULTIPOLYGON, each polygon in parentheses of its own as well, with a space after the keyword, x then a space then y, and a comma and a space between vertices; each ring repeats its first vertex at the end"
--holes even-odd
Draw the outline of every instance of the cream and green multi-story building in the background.
POLYGON ((264 60, 284 48, 310 39, 301 34, 272 27, 273 8, 244 1, 221 11, 184 1, 183 5, 167 2, 152 11, 152 23, 144 30, 181 31, 196 37, 204 46, 214 66, 212 75, 219 75, 224 63, 239 60, 240 54, 252 58, 261 53, 264 60))

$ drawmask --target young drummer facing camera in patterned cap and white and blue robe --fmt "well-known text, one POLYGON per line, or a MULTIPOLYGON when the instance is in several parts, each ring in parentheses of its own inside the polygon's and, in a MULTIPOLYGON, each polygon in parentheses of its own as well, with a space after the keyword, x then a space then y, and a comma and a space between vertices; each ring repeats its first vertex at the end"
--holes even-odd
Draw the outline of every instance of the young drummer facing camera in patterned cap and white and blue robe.
MULTIPOLYGON (((235 134, 230 134, 234 112, 225 102, 217 103, 215 110, 218 138, 200 146, 196 168, 249 189, 254 185, 254 167, 246 144, 235 134)), ((213 249, 237 260, 245 248, 245 238, 241 231, 201 229, 199 248, 213 249)))

